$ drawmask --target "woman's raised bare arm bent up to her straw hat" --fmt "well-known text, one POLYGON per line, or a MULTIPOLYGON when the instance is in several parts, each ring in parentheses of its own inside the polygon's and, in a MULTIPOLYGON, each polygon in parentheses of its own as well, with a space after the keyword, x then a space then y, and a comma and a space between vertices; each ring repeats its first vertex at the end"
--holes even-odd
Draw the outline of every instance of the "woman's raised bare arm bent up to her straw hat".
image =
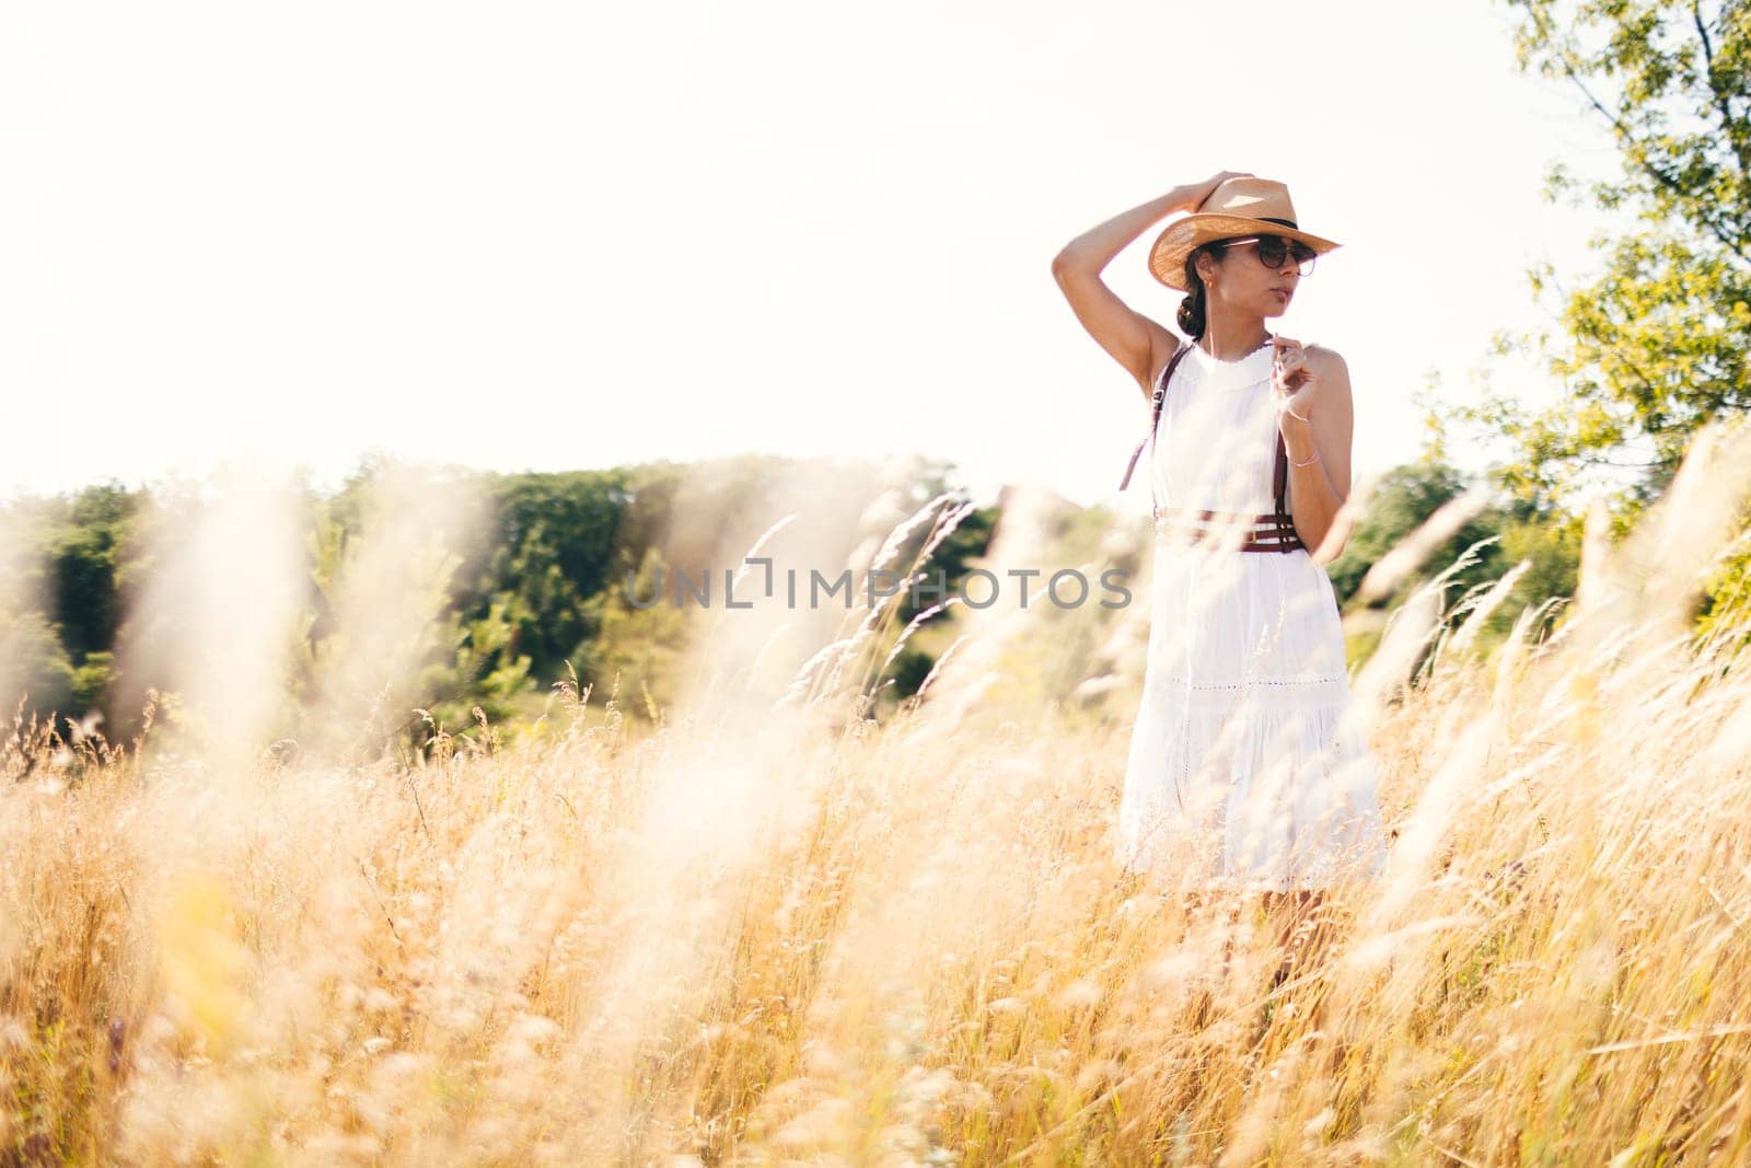
POLYGON ((1156 366, 1166 362, 1178 340, 1166 327, 1150 320, 1119 299, 1100 278, 1112 257, 1129 247, 1143 231, 1173 212, 1198 210, 1210 193, 1226 179, 1245 172, 1224 170, 1203 182, 1173 187, 1161 198, 1149 200, 1107 222, 1091 228, 1052 256, 1052 278, 1070 301, 1077 320, 1089 336, 1105 348, 1126 373, 1136 378, 1149 398, 1154 389, 1149 380, 1156 366))

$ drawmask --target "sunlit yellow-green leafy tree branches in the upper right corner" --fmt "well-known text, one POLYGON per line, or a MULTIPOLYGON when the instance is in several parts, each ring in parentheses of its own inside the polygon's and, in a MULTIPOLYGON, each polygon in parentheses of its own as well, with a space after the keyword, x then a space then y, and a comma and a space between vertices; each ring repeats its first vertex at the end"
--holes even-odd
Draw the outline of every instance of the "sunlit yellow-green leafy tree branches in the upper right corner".
MULTIPOLYGON (((1551 201, 1590 196, 1637 229, 1595 236, 1604 270, 1557 296, 1564 343, 1546 354, 1565 396, 1527 412, 1492 396, 1459 417, 1516 450, 1504 483, 1541 510, 1595 473, 1627 478, 1635 503, 1672 478, 1698 426, 1742 412, 1751 394, 1751 7, 1509 0, 1523 70, 1571 84, 1607 128, 1620 173, 1592 182, 1564 165, 1551 201)), ((1501 336, 1530 352, 1546 338, 1501 336)))

